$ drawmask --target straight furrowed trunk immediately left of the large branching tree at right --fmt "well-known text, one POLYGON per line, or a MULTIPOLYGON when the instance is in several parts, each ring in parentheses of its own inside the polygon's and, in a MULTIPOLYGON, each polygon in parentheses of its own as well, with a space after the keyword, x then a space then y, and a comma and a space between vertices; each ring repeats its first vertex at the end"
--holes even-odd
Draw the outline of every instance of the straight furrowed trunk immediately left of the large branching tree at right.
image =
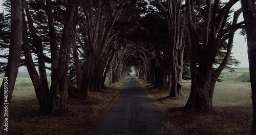
MULTIPOLYGON (((168 60, 170 61, 169 69, 169 81, 170 85, 170 97, 182 96, 181 89, 181 78, 183 66, 183 53, 184 48, 182 48, 183 43, 183 26, 181 26, 182 21, 182 0, 172 1, 168 0, 168 10, 166 12, 166 22, 168 28, 168 60)), ((164 8, 163 8, 164 9, 164 8)))

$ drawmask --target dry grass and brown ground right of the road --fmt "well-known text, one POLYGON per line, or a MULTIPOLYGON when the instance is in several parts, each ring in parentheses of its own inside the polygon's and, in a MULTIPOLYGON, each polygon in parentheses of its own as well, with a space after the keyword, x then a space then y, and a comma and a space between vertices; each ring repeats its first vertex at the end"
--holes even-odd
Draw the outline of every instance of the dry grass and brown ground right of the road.
POLYGON ((190 81, 183 81, 183 97, 168 98, 169 91, 159 91, 140 80, 171 128, 171 134, 250 134, 252 105, 250 83, 234 80, 246 69, 224 72, 225 81, 216 84, 214 110, 203 112, 183 107, 190 92, 190 81))

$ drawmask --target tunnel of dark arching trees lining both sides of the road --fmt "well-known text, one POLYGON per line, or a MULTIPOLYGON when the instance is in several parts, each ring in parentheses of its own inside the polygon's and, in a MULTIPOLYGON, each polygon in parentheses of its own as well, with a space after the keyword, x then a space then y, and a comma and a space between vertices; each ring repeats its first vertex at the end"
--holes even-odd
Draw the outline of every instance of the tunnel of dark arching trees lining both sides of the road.
MULTIPOLYGON (((106 88, 106 80, 116 83, 131 69, 161 91, 167 89, 169 97, 181 97, 182 79, 191 79, 185 107, 209 111, 221 72, 239 64, 231 55, 234 32, 245 28, 245 21, 238 22, 242 9, 231 12, 238 0, 17 1, 4 5, 20 9, 18 18, 9 21, 10 14, 0 14, 0 49, 13 44, 11 22, 13 28, 22 27, 16 32, 22 51, 0 57, 20 57, 12 62, 27 67, 44 114, 65 110, 67 98, 88 98, 90 91, 106 88)), ((13 76, 14 87, 17 74, 9 66, 1 62, 0 73, 13 76)))

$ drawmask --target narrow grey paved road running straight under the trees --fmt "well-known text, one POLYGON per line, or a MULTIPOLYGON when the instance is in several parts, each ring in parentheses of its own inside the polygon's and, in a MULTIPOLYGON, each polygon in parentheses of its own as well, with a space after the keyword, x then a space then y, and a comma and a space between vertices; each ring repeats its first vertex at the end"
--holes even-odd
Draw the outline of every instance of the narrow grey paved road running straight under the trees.
POLYGON ((131 77, 93 135, 170 134, 160 113, 152 106, 137 79, 131 77))

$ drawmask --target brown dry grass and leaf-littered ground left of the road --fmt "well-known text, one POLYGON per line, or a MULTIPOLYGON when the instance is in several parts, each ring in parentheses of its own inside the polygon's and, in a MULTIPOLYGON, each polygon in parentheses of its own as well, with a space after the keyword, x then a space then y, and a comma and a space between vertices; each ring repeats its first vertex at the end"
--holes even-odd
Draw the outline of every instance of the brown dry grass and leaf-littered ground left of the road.
MULTIPOLYGON (((67 110, 55 115, 38 113, 38 102, 34 94, 18 95, 12 100, 9 134, 90 134, 104 117, 118 97, 128 77, 116 84, 106 83, 109 87, 102 92, 90 92, 88 99, 68 99, 67 110), (104 98, 110 91, 118 94, 104 98)), ((28 92, 30 90, 16 90, 28 92)))

